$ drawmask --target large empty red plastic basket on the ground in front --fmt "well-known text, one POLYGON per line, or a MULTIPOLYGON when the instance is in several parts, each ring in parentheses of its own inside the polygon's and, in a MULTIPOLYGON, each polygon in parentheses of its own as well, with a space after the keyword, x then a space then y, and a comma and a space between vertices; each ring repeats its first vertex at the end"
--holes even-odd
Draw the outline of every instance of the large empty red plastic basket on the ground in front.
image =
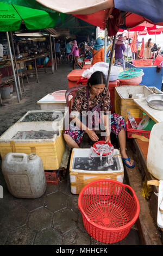
POLYGON ((108 179, 87 184, 79 194, 78 206, 86 231, 104 243, 124 239, 140 211, 133 188, 108 179))

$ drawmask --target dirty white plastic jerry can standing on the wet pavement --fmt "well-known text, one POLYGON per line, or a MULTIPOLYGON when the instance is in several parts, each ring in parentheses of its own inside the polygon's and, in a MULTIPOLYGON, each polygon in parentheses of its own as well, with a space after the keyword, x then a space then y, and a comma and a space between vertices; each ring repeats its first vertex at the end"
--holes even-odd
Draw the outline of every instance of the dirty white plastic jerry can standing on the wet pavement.
POLYGON ((46 191, 42 160, 35 153, 8 153, 2 160, 2 173, 14 197, 38 198, 46 191))

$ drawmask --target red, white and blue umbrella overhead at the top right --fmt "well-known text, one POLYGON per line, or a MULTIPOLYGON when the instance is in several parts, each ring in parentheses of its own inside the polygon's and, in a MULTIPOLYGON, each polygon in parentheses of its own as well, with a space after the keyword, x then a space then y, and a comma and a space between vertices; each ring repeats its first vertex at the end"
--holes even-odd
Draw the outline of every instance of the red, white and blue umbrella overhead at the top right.
MULTIPOLYGON (((117 34, 120 28, 131 29, 145 21, 163 26, 162 1, 70 0, 67 2, 67 0, 36 0, 36 2, 60 13, 72 14, 102 29, 107 28, 108 36, 117 34)), ((143 31, 144 28, 141 30, 143 31)))

